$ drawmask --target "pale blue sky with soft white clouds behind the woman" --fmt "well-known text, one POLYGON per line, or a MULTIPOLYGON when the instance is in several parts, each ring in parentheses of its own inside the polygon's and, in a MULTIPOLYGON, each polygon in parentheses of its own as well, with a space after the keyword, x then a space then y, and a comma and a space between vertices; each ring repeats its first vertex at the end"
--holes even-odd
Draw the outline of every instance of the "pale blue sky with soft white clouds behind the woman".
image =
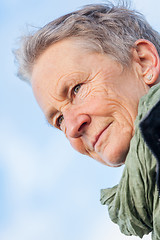
MULTIPOLYGON (((120 234, 99 201, 100 189, 117 184, 123 167, 105 167, 81 156, 49 127, 31 88, 16 77, 12 54, 27 24, 40 27, 99 2, 1 0, 1 240, 138 239, 120 234)), ((160 31, 159 0, 135 0, 133 6, 160 31)))

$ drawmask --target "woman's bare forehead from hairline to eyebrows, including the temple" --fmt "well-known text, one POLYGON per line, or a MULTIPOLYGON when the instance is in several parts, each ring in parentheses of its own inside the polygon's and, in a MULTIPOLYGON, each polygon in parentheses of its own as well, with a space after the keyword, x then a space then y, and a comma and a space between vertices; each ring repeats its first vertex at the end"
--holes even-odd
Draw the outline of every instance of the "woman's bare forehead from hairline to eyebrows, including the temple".
POLYGON ((34 95, 44 114, 55 102, 58 109, 57 104, 62 101, 59 89, 63 85, 67 87, 80 78, 92 78, 98 72, 104 72, 104 69, 105 73, 108 71, 110 74, 115 67, 113 61, 107 55, 86 51, 76 44, 76 40, 67 39, 50 46, 33 66, 31 81, 34 95))

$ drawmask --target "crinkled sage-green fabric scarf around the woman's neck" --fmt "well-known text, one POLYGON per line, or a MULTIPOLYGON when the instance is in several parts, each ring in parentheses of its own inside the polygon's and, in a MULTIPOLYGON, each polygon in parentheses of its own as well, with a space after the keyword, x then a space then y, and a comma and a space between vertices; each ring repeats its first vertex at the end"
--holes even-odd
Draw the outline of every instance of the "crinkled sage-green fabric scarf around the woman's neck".
POLYGON ((160 201, 156 186, 156 159, 144 143, 139 122, 160 98, 160 84, 141 98, 120 183, 101 190, 101 203, 108 206, 111 220, 125 235, 143 237, 152 231, 160 239, 160 201))

